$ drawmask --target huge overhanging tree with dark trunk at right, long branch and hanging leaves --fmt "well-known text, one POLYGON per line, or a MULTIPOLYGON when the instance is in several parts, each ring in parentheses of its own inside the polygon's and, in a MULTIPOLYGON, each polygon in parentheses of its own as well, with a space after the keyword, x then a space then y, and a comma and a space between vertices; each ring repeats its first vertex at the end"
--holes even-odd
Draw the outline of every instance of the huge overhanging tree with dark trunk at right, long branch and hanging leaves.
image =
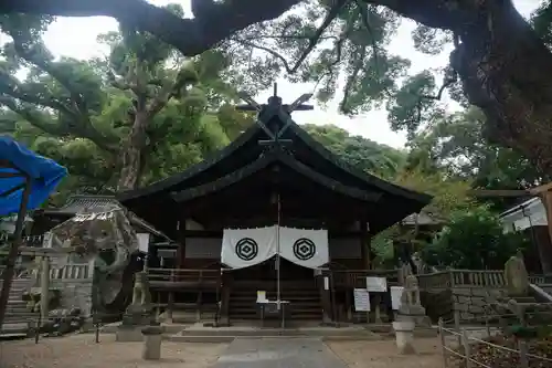
MULTIPOLYGON (((311 46, 321 38, 327 38, 330 44, 323 48, 329 51, 320 52, 317 59, 321 63, 315 70, 320 71, 320 64, 327 66, 335 62, 333 56, 346 54, 348 91, 357 96, 352 98, 352 104, 349 103, 350 111, 354 111, 353 106, 371 105, 369 99, 362 97, 363 94, 358 93, 370 80, 374 81, 371 85, 375 84, 376 88, 371 87, 369 96, 390 93, 393 97, 389 105, 396 113, 396 120, 392 118, 394 124, 417 125, 442 95, 442 90, 454 86, 458 81, 467 99, 485 112, 490 137, 520 150, 542 171, 551 171, 552 83, 548 67, 552 64, 552 54, 543 39, 518 13, 511 0, 192 0, 194 19, 182 19, 144 0, 11 0, 2 1, 0 11, 115 17, 158 35, 184 55, 197 55, 224 40, 240 38, 236 32, 241 30, 247 34, 253 24, 261 23, 258 27, 262 27, 262 22, 276 19, 298 4, 306 6, 310 11, 307 17, 295 17, 295 23, 306 31, 300 36, 305 50, 314 49, 311 46), (455 50, 444 87, 436 86, 435 80, 423 73, 411 77, 397 91, 393 81, 400 75, 397 66, 401 62, 395 59, 392 67, 384 66, 393 56, 382 50, 382 41, 392 35, 382 32, 385 30, 383 23, 393 22, 393 14, 420 23, 416 40, 428 52, 438 46, 436 38, 454 40, 455 50), (329 21, 335 19, 333 25, 328 28, 329 21, 320 22, 318 30, 309 25, 320 17, 329 21), (325 29, 330 32, 325 32, 325 29), (384 77, 380 76, 381 69, 386 72, 384 77)), ((543 9, 548 6, 546 2, 543 9)), ((541 19, 545 23, 546 17, 541 19)), ((280 28, 286 29, 285 24, 280 28)), ((549 28, 541 25, 539 30, 548 31, 549 28)), ((278 34, 277 38, 283 40, 279 44, 285 44, 289 34, 287 38, 286 34, 284 38, 278 34)), ((250 40, 240 41, 244 45, 244 41, 250 40)), ((272 46, 261 46, 274 51, 272 46)), ((335 64, 338 66, 339 63, 335 64)), ((289 67, 289 72, 297 71, 298 67, 289 67)), ((351 101, 347 94, 346 97, 351 101)), ((342 106, 347 109, 348 104, 342 106)))

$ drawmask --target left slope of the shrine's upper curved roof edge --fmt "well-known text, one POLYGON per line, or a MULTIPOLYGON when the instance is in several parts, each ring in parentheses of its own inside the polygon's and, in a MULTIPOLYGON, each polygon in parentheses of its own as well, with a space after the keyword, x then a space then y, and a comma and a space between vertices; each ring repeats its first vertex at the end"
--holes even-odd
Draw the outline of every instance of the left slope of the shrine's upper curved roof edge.
POLYGON ((144 187, 144 188, 123 191, 120 193, 117 193, 116 198, 118 201, 126 201, 126 200, 135 199, 138 197, 142 197, 142 196, 153 194, 158 191, 167 190, 170 187, 176 186, 179 182, 182 182, 182 181, 187 180, 188 178, 195 176, 197 174, 205 171, 206 169, 216 165, 219 161, 221 161, 225 157, 234 154, 240 147, 242 147, 244 144, 246 144, 257 133, 257 129, 258 129, 258 126, 256 124, 251 126, 247 130, 245 130, 243 134, 241 134, 230 145, 227 145, 223 149, 214 153, 211 157, 204 159, 203 161, 192 166, 191 168, 189 168, 180 174, 173 175, 173 176, 171 176, 167 179, 163 179, 163 180, 159 180, 159 181, 153 182, 153 183, 151 183, 147 187, 144 187))

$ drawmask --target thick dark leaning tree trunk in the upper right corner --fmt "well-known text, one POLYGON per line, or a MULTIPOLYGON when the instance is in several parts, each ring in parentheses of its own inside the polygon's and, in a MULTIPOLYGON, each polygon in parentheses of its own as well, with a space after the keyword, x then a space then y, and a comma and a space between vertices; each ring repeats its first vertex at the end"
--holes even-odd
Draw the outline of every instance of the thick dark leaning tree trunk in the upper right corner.
POLYGON ((510 0, 365 0, 425 25, 453 31, 450 55, 485 133, 552 174, 552 54, 510 0))

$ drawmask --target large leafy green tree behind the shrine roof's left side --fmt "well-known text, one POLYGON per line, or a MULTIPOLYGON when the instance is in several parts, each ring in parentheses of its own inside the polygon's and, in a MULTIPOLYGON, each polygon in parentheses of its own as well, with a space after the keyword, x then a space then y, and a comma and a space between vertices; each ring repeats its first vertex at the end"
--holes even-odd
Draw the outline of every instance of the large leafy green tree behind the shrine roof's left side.
POLYGON ((184 59, 121 27, 100 36, 110 50, 106 60, 56 60, 41 40, 50 21, 0 19, 12 39, 2 49, 0 105, 19 116, 4 114, 19 122, 2 132, 66 165, 84 190, 131 189, 182 170, 227 144, 233 124, 251 122, 224 105, 235 90, 221 52, 184 59), (23 80, 22 67, 29 69, 23 80), (222 126, 219 116, 229 122, 222 126))

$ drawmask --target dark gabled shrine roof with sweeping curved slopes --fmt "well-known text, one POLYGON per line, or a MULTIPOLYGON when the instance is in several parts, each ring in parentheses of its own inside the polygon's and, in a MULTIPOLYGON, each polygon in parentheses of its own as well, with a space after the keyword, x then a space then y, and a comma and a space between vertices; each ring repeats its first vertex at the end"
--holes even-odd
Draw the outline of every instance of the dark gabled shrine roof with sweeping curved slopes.
MULTIPOLYGON (((275 125, 282 126, 280 120, 275 125)), ((277 130, 277 127, 275 128, 277 130)), ((379 217, 378 228, 389 227, 406 215, 418 212, 432 197, 380 179, 347 165, 299 125, 291 123, 282 136, 287 143, 274 147, 261 145, 267 134, 255 124, 224 149, 183 172, 145 188, 118 193, 117 199, 149 222, 168 221, 178 217, 187 201, 215 196, 243 180, 258 177, 274 164, 288 169, 301 182, 307 179, 328 191, 354 200, 359 206, 372 207, 372 217, 379 217), (363 204, 362 204, 363 203, 363 204), (160 214, 166 219, 159 219, 160 214)), ((268 175, 268 174, 267 174, 268 175)), ((320 189, 322 190, 322 189, 320 189)), ((167 225, 173 228, 174 224, 167 225)))

